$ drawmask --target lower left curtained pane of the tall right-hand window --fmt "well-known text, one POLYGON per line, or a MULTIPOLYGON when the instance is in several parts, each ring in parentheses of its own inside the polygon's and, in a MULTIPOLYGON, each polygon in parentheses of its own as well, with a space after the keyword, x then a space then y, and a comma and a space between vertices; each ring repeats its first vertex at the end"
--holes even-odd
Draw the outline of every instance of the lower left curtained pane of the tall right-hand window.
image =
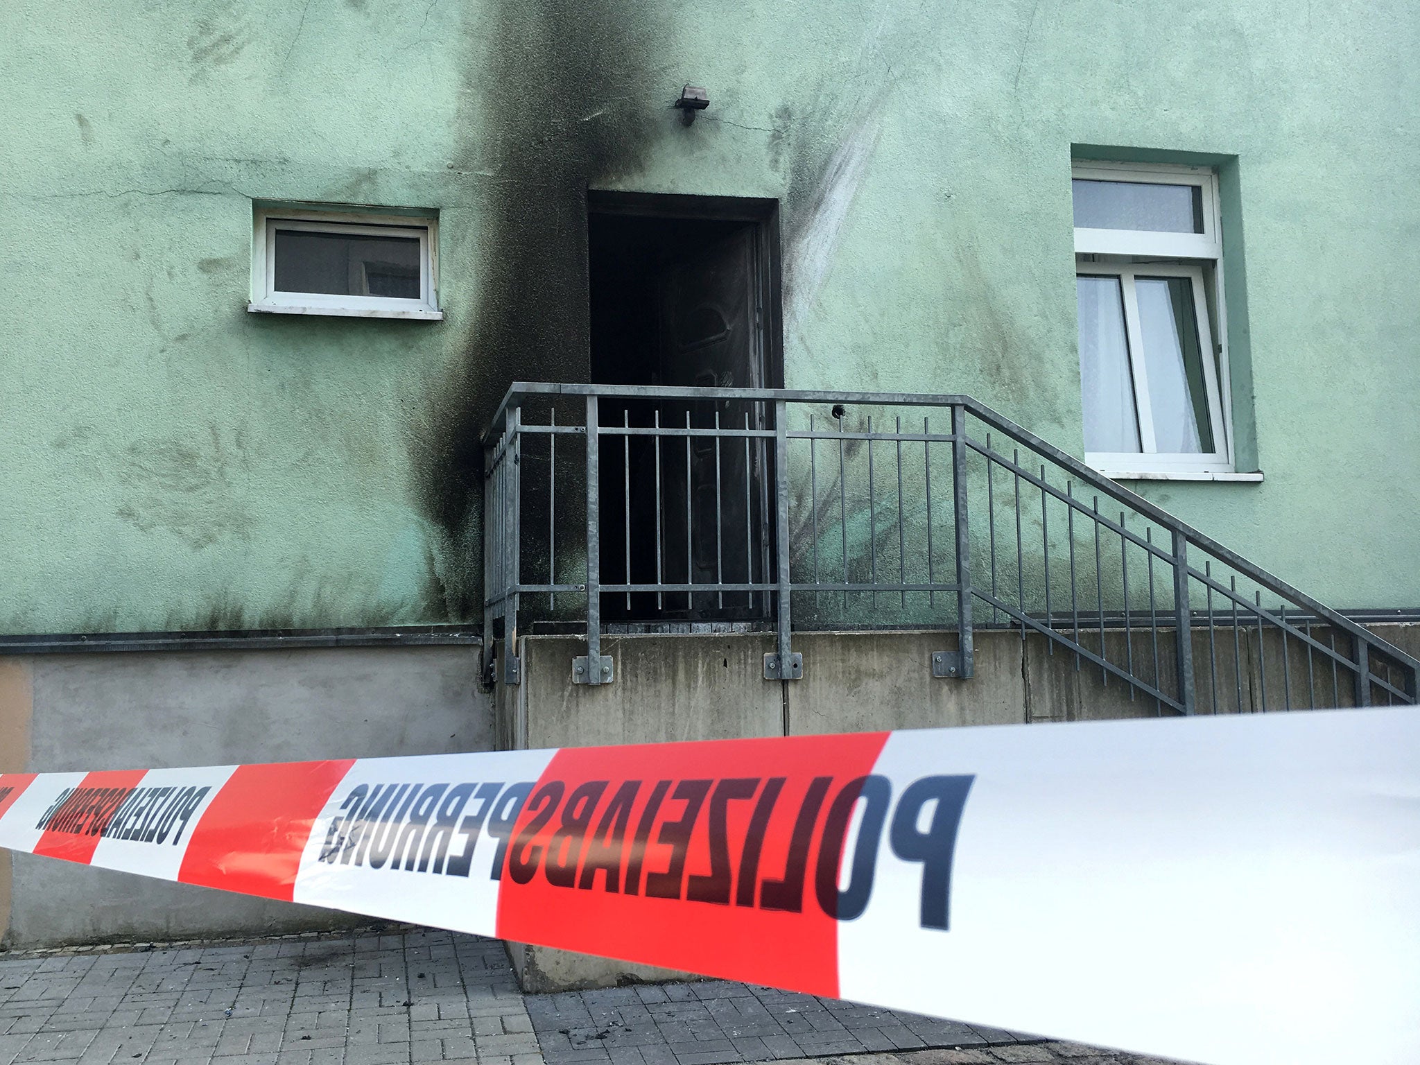
POLYGON ((1133 373, 1118 277, 1078 277, 1079 388, 1086 452, 1139 452, 1133 373))

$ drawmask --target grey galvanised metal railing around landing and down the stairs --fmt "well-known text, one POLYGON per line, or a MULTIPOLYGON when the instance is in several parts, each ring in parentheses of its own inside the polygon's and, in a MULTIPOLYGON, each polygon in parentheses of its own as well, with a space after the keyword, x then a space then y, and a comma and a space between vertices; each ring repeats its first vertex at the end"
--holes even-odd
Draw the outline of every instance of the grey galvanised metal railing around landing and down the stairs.
POLYGON ((970 677, 1004 628, 1156 713, 1416 701, 1416 659, 967 396, 517 383, 484 446, 507 682, 528 619, 585 619, 591 684, 608 623, 771 630, 772 680, 795 630, 954 630, 970 677))

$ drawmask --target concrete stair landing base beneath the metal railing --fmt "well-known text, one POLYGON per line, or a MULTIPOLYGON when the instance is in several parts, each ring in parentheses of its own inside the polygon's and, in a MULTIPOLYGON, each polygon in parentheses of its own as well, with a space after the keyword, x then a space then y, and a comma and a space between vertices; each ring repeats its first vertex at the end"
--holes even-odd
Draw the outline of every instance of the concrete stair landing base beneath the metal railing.
MULTIPOLYGON (((1411 655, 1420 649, 1420 626, 1373 629, 1411 655)), ((1325 642, 1325 635, 1319 639, 1325 642)), ((1160 632, 1159 670, 1166 692, 1174 683, 1172 642, 1173 633, 1160 632)), ((1112 662, 1126 660, 1123 633, 1106 632, 1105 645, 1112 662)), ((1082 660, 1076 669, 1074 655, 1058 646, 1052 653, 1048 640, 1038 635, 1022 640, 1017 632, 977 630, 976 673, 968 680, 932 676, 932 652, 954 650, 954 633, 795 633, 794 649, 804 655, 804 677, 794 682, 763 679, 763 656, 771 648, 772 638, 765 635, 604 638, 602 653, 615 660, 616 679, 611 684, 585 686, 572 683, 572 659, 586 652, 584 640, 527 636, 521 640, 523 684, 500 689, 508 714, 507 734, 517 737, 520 747, 581 747, 1160 713, 1152 699, 1137 693, 1130 697, 1123 682, 1103 682, 1099 667, 1082 660)), ((1225 640, 1220 636, 1210 649, 1207 632, 1193 633, 1198 713, 1214 711, 1206 672, 1213 660, 1218 674, 1217 713, 1235 711, 1234 657, 1242 663, 1244 710, 1262 709, 1264 667, 1267 709, 1281 707, 1281 646, 1264 643, 1260 657, 1255 638, 1241 633, 1238 650, 1240 656, 1234 656, 1231 635, 1225 640)), ((1147 676, 1152 642, 1136 633, 1133 655, 1136 667, 1147 676)), ((1292 690, 1298 694, 1305 692, 1305 682, 1295 676, 1301 660, 1294 646, 1289 666, 1292 690)), ((1321 677, 1319 669, 1316 676, 1321 677)), ((1349 706, 1350 699, 1349 692, 1342 692, 1339 704, 1349 706)), ((527 991, 680 978, 667 970, 521 943, 510 943, 508 954, 527 991)))

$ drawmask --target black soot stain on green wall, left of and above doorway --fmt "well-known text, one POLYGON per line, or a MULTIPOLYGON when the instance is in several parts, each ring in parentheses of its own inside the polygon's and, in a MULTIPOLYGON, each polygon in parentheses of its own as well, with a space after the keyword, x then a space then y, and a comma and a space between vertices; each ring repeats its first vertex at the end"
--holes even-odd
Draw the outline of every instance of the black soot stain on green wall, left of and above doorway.
POLYGON ((586 381, 586 189, 645 168, 679 126, 646 4, 506 0, 466 31, 457 115, 477 182, 477 291, 415 433, 415 497, 443 538, 430 598, 481 613, 480 433, 513 381, 586 381))

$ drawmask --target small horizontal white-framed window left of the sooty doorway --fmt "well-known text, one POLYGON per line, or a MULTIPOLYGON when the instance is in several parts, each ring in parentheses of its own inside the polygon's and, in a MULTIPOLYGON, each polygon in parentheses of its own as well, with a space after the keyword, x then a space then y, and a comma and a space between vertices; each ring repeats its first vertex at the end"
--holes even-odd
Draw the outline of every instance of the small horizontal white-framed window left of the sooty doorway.
POLYGON ((248 311, 440 320, 437 222, 258 209, 248 311))

